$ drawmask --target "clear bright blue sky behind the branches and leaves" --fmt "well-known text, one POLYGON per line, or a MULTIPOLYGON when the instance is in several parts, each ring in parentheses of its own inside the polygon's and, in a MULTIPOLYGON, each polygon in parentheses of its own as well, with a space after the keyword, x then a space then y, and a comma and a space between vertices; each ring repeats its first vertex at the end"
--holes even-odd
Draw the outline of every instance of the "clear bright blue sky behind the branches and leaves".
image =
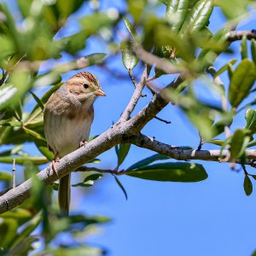
MULTIPOLYGON (((111 3, 103 1, 105 8, 111 3)), ((115 6, 122 8, 122 1, 115 6)), ((86 10, 86 7, 84 6, 86 10)), ((83 12, 79 12, 79 15, 83 12)), ((76 19, 76 17, 73 17, 76 19)), ((214 10, 210 27, 216 32, 221 27, 224 16, 218 9, 214 10)), ((256 22, 251 19, 240 28, 251 30, 256 22)), ((75 22, 70 20, 70 32, 76 29, 75 22)), ((240 58, 238 45, 232 49, 240 58)), ((106 52, 103 44, 91 42, 81 51, 81 55, 93 52, 106 52)), ((217 61, 217 67, 230 58, 225 55, 217 61)), ((233 56, 232 56, 233 58, 233 56)), ((125 71, 121 57, 112 64, 125 71)), ((119 119, 125 105, 132 94, 132 84, 129 80, 111 79, 101 71, 100 67, 89 67, 86 70, 96 74, 107 97, 99 98, 95 104, 95 121, 91 128, 91 136, 102 133, 119 119)), ((63 76, 69 78, 73 73, 63 76)), ((227 85, 225 75, 222 77, 227 85)), ((170 82, 170 76, 160 79, 161 84, 170 82)), ((147 92, 147 91, 146 91, 147 92)), ((143 108, 150 100, 141 98, 136 111, 143 108)), ((202 94, 202 96, 204 96, 202 94)), ((196 147, 199 143, 198 133, 184 117, 183 113, 169 104, 159 116, 172 121, 166 125, 153 119, 146 125, 143 133, 149 137, 172 145, 189 145, 196 147)), ((244 113, 241 113, 234 125, 242 127, 244 113)), ((209 148, 209 147, 208 147, 209 148)), ((34 150, 33 147, 30 150, 34 150)), ((154 154, 143 148, 131 146, 131 152, 123 167, 131 166, 137 160, 154 154)), ((114 149, 100 156, 102 168, 114 168, 116 156, 114 149)), ((113 177, 107 175, 96 182, 90 190, 73 189, 73 209, 96 215, 103 214, 113 218, 113 222, 102 226, 101 235, 90 236, 91 245, 100 245, 109 250, 111 256, 131 255, 250 255, 256 249, 256 215, 255 193, 247 197, 243 191, 243 172, 230 170, 227 164, 201 162, 209 177, 200 183, 160 183, 145 181, 134 177, 120 177, 128 193, 128 201, 114 183, 113 177), (86 191, 83 198, 81 192, 86 191)), ((22 168, 20 167, 20 170, 22 168)), ((249 172, 253 170, 248 169, 249 172)), ((79 174, 73 175, 79 179, 79 174)), ((255 184, 255 183, 253 183, 255 184)))

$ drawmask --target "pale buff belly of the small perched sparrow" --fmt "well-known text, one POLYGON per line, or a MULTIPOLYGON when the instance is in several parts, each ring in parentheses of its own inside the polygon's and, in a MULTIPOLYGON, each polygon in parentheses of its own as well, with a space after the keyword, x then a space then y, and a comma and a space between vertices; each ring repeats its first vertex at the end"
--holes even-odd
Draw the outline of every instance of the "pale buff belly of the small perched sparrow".
POLYGON ((88 140, 90 118, 67 119, 61 115, 49 114, 44 127, 45 137, 54 154, 63 157, 79 148, 80 142, 88 140))

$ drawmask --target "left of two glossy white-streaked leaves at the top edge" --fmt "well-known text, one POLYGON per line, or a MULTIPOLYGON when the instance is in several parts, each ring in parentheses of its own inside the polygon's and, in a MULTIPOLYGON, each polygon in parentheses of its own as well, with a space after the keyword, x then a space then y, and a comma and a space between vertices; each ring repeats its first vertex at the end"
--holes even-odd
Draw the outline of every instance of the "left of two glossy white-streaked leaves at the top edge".
POLYGON ((166 1, 166 19, 172 24, 172 32, 178 32, 183 25, 189 7, 189 0, 166 1))

